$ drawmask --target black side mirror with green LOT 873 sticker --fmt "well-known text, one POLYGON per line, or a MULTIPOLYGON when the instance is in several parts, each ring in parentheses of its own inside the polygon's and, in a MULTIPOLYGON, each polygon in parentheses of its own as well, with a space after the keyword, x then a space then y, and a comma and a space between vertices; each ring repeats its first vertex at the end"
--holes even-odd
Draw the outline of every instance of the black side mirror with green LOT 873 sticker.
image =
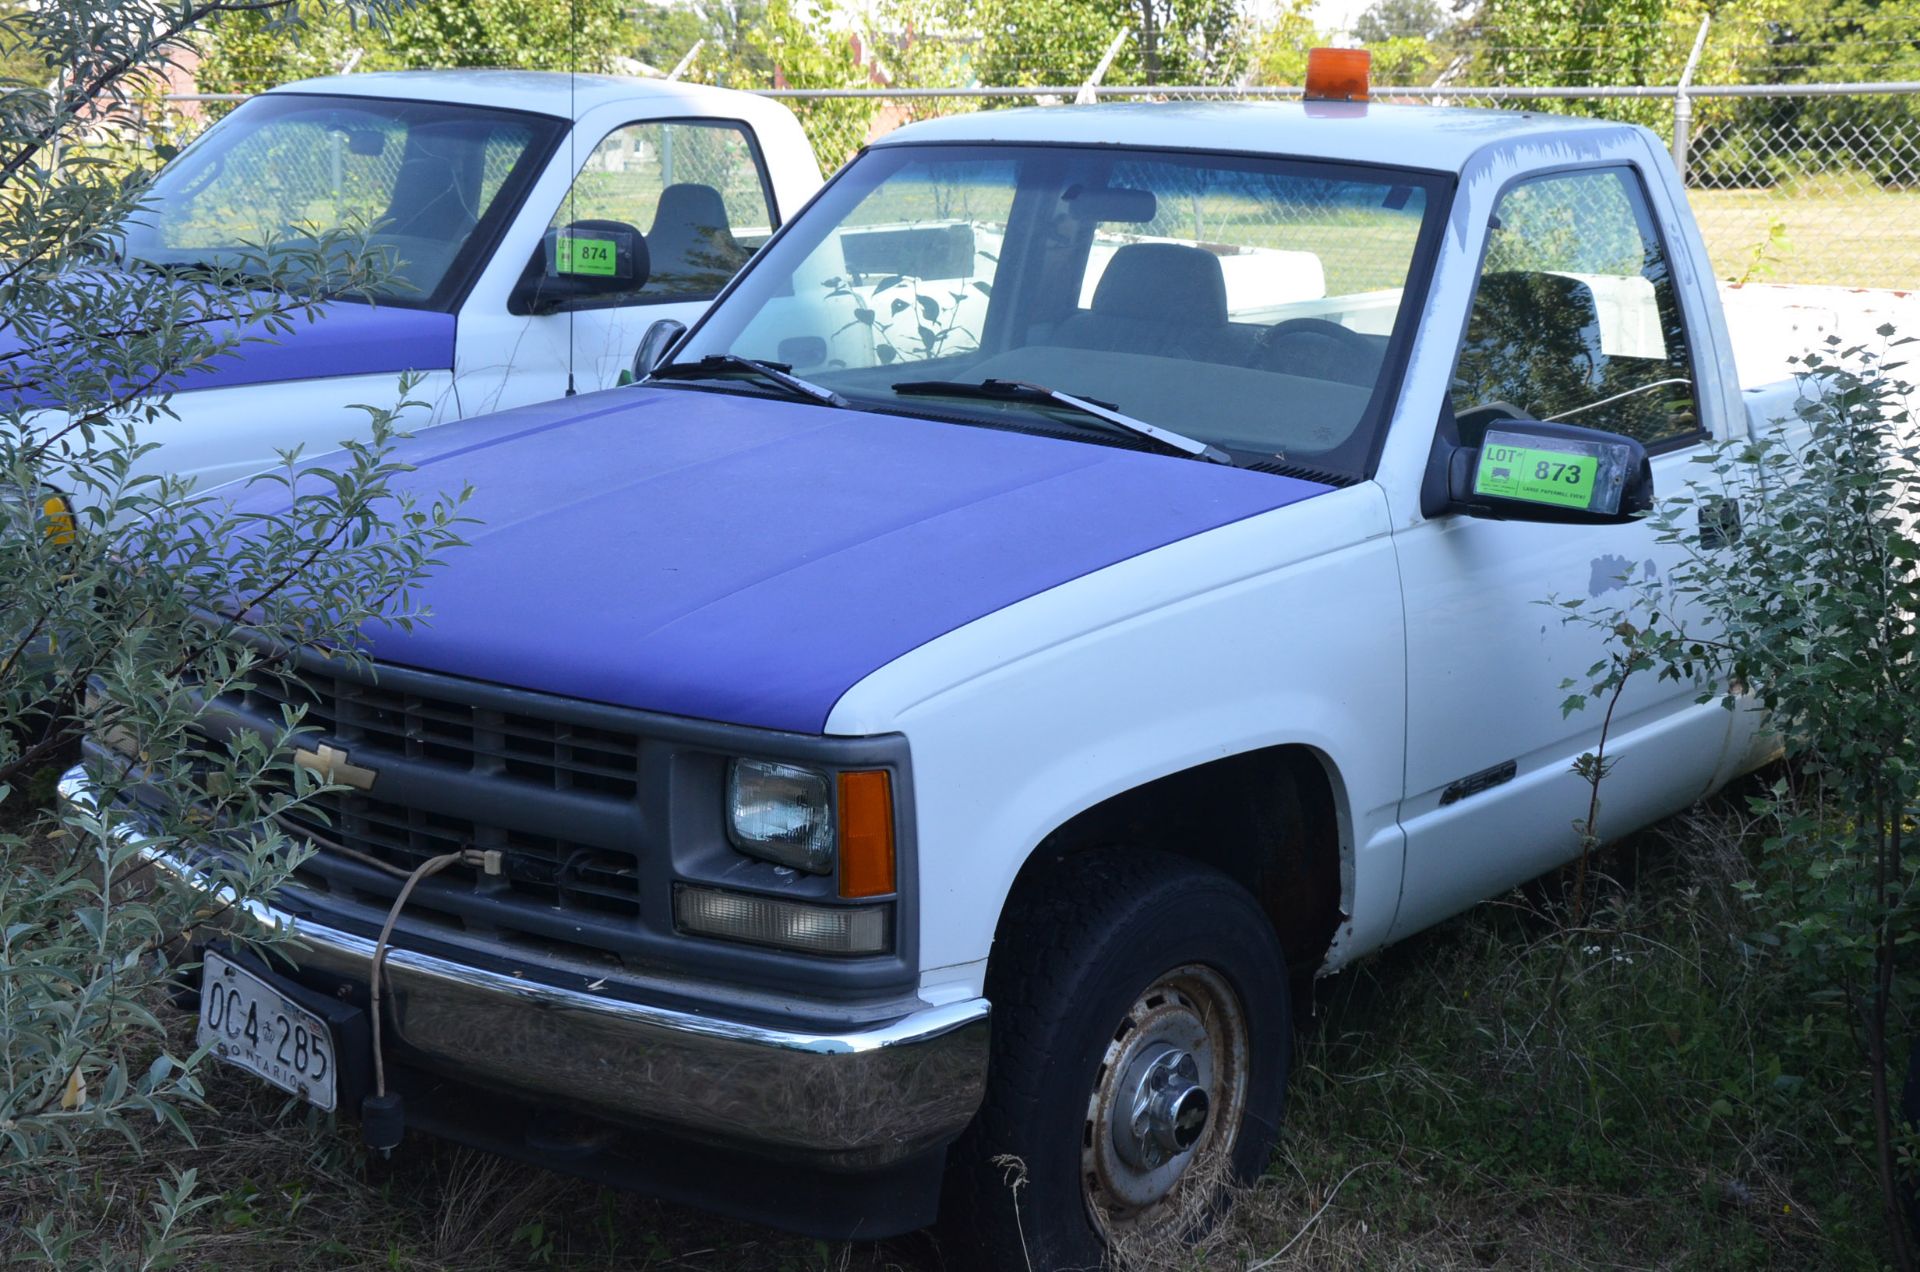
POLYGON ((1434 459, 1446 465, 1444 511, 1467 517, 1624 525, 1653 509, 1647 448, 1619 432, 1501 419, 1478 446, 1434 459))

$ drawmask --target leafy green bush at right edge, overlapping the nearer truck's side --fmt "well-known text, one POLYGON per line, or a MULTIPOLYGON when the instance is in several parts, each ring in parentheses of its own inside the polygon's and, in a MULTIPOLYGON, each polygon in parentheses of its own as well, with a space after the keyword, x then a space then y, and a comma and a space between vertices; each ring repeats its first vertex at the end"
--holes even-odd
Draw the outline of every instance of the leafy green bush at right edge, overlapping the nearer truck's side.
POLYGON ((1684 553, 1672 576, 1586 617, 1611 642, 1596 690, 1645 673, 1697 680, 1701 701, 1764 711, 1795 761, 1801 782, 1753 799, 1770 834, 1743 886, 1751 940, 1859 1043, 1857 1107, 1895 1262, 1912 1268, 1895 1089, 1920 940, 1920 446, 1897 355, 1908 342, 1880 336, 1878 350, 1832 338, 1809 355, 1791 425, 1715 450, 1713 480, 1657 509, 1661 542, 1684 553), (1740 532, 1707 550, 1697 526, 1722 519, 1720 500, 1740 532))

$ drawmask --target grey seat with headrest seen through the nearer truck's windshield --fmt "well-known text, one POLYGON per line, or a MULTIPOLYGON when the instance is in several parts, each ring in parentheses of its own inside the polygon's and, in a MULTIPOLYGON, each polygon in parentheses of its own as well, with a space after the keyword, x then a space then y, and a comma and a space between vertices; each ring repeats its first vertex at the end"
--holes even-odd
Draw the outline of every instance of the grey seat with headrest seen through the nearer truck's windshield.
POLYGON ((1131 242, 1114 254, 1092 292, 1052 344, 1108 354, 1215 357, 1227 330, 1227 279, 1219 257, 1173 242, 1131 242))

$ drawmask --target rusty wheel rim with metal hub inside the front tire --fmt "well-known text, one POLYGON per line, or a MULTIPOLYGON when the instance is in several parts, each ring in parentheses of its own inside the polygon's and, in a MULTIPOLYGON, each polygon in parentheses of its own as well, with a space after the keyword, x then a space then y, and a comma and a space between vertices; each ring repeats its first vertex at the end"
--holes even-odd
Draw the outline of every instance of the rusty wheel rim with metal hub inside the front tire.
POLYGON ((1179 1224, 1183 1187, 1233 1151, 1246 1107, 1246 1020, 1227 982, 1181 966, 1133 1003, 1106 1047, 1081 1134, 1081 1182, 1102 1232, 1179 1224))

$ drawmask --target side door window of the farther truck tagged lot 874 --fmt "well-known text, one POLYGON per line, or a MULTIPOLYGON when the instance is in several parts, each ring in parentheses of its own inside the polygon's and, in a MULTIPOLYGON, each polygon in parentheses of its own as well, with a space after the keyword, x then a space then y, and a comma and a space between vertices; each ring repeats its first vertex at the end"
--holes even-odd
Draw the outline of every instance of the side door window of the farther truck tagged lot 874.
POLYGON ((601 304, 712 300, 774 232, 745 129, 630 123, 588 156, 553 227, 616 223, 647 238, 647 282, 601 304))

